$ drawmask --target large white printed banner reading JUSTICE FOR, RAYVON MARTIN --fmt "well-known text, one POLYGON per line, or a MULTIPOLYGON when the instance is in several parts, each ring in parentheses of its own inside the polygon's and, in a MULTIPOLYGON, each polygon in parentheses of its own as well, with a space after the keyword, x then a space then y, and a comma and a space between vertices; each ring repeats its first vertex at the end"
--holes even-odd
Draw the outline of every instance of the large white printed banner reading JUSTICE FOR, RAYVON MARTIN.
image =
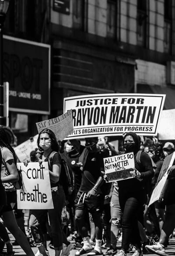
POLYGON ((64 112, 72 109, 74 131, 68 137, 108 136, 135 132, 155 135, 165 95, 94 94, 64 98, 64 112))

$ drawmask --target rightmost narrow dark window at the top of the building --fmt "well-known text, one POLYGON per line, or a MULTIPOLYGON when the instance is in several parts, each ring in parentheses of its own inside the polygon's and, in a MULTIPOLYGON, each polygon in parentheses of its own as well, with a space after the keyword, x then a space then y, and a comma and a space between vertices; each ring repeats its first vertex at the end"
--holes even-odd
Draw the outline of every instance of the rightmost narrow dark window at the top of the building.
POLYGON ((164 0, 164 52, 172 53, 172 0, 164 0))

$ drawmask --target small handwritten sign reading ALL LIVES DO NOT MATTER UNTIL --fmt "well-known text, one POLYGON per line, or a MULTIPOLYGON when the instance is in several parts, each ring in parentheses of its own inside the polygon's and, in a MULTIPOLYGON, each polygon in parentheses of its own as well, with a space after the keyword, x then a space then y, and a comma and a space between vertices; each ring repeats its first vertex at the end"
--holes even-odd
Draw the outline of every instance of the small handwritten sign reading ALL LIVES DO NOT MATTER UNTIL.
POLYGON ((133 171, 135 166, 133 152, 123 155, 106 157, 103 159, 103 161, 107 182, 132 178, 130 171, 133 171))

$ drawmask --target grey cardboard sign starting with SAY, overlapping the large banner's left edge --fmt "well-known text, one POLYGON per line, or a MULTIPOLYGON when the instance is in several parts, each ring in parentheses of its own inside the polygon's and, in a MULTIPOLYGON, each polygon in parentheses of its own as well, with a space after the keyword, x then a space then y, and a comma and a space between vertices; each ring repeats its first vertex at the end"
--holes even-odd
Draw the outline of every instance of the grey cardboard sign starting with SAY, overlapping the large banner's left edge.
POLYGON ((73 132, 72 110, 68 110, 65 114, 36 123, 38 133, 47 128, 55 133, 57 140, 64 140, 73 132))

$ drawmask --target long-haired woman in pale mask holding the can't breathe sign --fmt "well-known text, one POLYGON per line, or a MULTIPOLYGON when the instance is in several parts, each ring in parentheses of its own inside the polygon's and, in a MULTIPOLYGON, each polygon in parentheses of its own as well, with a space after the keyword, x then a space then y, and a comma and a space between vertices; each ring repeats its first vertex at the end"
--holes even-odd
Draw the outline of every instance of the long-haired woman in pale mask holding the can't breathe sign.
POLYGON ((44 129, 40 132, 37 140, 38 147, 43 149, 43 154, 38 160, 41 164, 43 161, 48 162, 49 166, 49 176, 52 200, 54 204, 54 209, 48 210, 31 210, 31 217, 34 215, 39 224, 30 225, 31 232, 34 237, 35 243, 40 251, 40 255, 46 256, 44 247, 44 237, 43 234, 46 233, 45 221, 47 220, 47 214, 49 215, 49 222, 51 228, 51 236, 53 239, 55 256, 59 256, 61 250, 63 249, 63 235, 61 227, 61 213, 63 206, 65 204, 65 195, 62 187, 63 181, 61 178, 61 157, 58 153, 58 144, 55 134, 49 130, 44 129))

